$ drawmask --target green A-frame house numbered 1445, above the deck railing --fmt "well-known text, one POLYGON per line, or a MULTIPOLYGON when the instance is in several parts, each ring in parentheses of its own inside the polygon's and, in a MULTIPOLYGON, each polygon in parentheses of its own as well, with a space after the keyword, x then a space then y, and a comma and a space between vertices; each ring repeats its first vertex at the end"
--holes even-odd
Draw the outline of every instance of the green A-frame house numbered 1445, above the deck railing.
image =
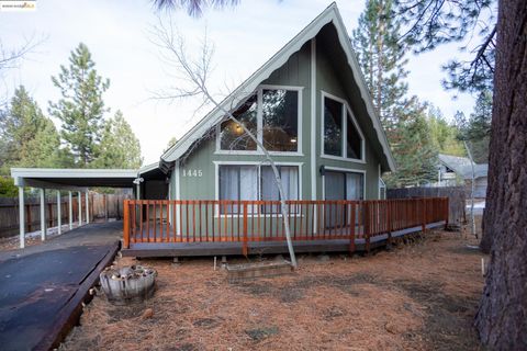
MULTIPOLYGON (((272 152, 288 200, 380 199, 380 177, 394 170, 336 5, 222 106, 237 106, 234 115, 272 152)), ((169 174, 170 200, 279 197, 262 151, 220 109, 168 149, 160 165, 169 174)))

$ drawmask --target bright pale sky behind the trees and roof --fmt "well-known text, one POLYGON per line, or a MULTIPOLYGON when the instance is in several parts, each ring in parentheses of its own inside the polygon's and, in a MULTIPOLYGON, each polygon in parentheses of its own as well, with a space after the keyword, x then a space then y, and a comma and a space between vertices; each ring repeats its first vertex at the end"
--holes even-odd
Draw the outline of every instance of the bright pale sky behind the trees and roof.
MULTIPOLYGON (((20 67, 4 75, 0 89, 12 94, 24 84, 47 112, 49 101, 60 98, 51 77, 60 65, 67 65, 70 52, 85 43, 96 67, 111 81, 103 99, 111 109, 106 116, 121 110, 138 137, 144 165, 159 160, 168 140, 181 137, 208 110, 195 111, 192 99, 160 101, 156 94, 169 87, 181 86, 179 77, 161 59, 152 31, 158 13, 148 0, 38 0, 34 12, 0 12, 0 41, 4 48, 19 47, 34 37, 42 43, 27 55, 20 67)), ((317 14, 330 0, 242 0, 223 10, 208 10, 200 19, 184 11, 171 12, 172 23, 193 55, 205 32, 214 45, 210 90, 224 94, 258 69, 317 14)), ((348 32, 357 26, 363 0, 337 1, 348 32)), ((161 16, 167 14, 161 14, 161 16)), ((474 99, 469 94, 445 91, 441 65, 458 54, 459 44, 415 56, 408 55, 410 94, 438 106, 446 118, 457 111, 472 111, 474 99)), ((59 126, 58 121, 54 121, 59 126)))

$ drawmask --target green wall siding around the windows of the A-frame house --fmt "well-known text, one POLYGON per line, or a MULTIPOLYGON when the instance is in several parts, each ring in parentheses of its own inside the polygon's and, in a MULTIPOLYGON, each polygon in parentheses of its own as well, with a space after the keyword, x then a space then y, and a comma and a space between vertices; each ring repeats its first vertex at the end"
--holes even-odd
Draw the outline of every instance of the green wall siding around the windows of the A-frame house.
MULTIPOLYGON (((379 150, 380 146, 372 122, 366 112, 365 103, 358 93, 352 72, 345 65, 345 53, 336 43, 333 24, 326 25, 315 39, 316 69, 312 77, 312 42, 305 43, 302 48, 293 54, 269 78, 264 80, 264 86, 289 86, 301 88, 302 121, 301 136, 299 138, 299 152, 294 155, 273 156, 276 162, 301 163, 299 174, 301 190, 300 199, 312 199, 312 168, 315 168, 316 199, 323 200, 323 176, 321 167, 360 170, 366 172, 366 199, 379 196, 379 150), (329 44, 327 44, 329 42, 329 44), (345 68, 345 69, 343 69, 345 68), (313 79, 314 78, 314 79, 313 79), (312 140, 312 81, 315 86, 315 139, 312 140), (351 82, 350 82, 351 81, 351 82), (365 135, 366 162, 328 159, 322 156, 322 94, 323 92, 346 100, 352 111, 359 128, 365 135), (312 143, 315 143, 315 155, 312 157, 312 143), (314 159, 314 162, 312 161, 314 159)), ((244 152, 222 154, 216 152, 215 133, 208 139, 201 140, 198 146, 186 157, 179 160, 179 199, 180 200, 215 200, 217 193, 217 165, 222 162, 265 162, 262 155, 244 155, 244 152)), ((177 199, 176 171, 171 174, 170 199, 177 199)), ((256 184, 255 184, 256 186, 256 184)))

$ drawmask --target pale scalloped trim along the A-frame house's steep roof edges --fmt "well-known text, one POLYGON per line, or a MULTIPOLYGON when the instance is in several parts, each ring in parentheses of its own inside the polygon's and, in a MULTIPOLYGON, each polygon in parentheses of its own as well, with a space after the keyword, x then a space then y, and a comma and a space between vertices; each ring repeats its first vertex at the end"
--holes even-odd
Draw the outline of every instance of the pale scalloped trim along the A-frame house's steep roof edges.
POLYGON ((181 139, 169 148, 162 156, 161 161, 171 162, 179 159, 193 143, 199 140, 214 125, 220 123, 224 117, 222 107, 231 110, 231 106, 235 106, 243 102, 249 94, 251 94, 256 88, 269 76, 282 67, 288 59, 300 50, 300 48, 309 41, 314 38, 318 32, 326 24, 333 23, 337 31, 339 44, 346 54, 347 63, 354 73, 355 81, 360 90, 360 95, 366 104, 368 115, 371 118, 373 128, 375 129, 377 137, 382 146, 382 152, 385 157, 385 163, 390 171, 395 170, 395 161, 393 159, 390 146, 381 126, 379 116, 377 115, 373 103, 366 86, 365 78, 360 70, 357 57, 351 47, 346 26, 344 25, 340 13, 335 2, 327 7, 319 15, 317 15, 307 26, 305 26, 299 34, 296 34, 285 46, 283 46, 277 54, 274 54, 266 64, 264 64, 258 70, 256 70, 247 80, 245 80, 238 88, 236 88, 227 98, 225 98, 221 107, 215 107, 209 112, 200 122, 198 122, 181 139))

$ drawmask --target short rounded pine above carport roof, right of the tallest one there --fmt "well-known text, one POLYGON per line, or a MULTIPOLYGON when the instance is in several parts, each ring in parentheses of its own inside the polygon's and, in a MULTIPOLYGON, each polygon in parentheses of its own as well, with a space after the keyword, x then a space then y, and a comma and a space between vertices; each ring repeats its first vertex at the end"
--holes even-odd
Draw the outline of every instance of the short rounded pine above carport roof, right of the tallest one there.
POLYGON ((97 168, 136 169, 143 162, 139 140, 121 111, 104 122, 101 144, 97 151, 97 159, 91 165, 97 168))

